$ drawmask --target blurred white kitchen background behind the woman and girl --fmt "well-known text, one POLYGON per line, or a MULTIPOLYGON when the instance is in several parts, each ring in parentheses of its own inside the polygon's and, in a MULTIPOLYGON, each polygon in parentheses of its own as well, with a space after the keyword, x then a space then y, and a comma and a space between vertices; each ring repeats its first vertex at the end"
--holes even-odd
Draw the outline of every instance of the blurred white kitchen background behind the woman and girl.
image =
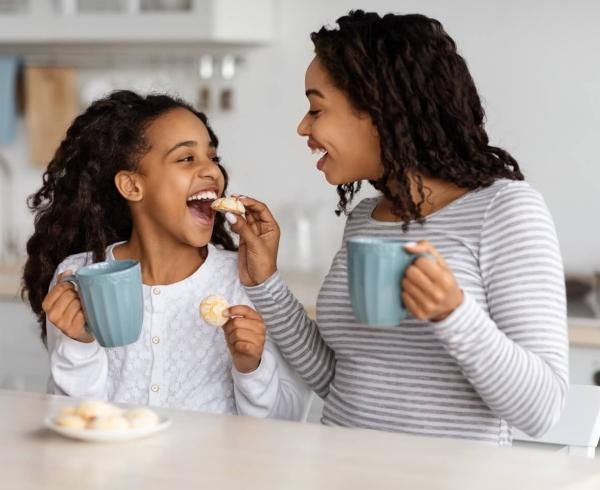
POLYGON ((26 197, 61 127, 113 89, 168 91, 208 113, 231 190, 270 205, 280 268, 313 306, 343 219, 296 125, 309 34, 352 8, 431 15, 456 40, 492 144, 517 158, 554 216, 572 382, 600 384, 597 0, 0 0, 0 388, 44 390, 47 377, 35 320, 16 297, 26 197))

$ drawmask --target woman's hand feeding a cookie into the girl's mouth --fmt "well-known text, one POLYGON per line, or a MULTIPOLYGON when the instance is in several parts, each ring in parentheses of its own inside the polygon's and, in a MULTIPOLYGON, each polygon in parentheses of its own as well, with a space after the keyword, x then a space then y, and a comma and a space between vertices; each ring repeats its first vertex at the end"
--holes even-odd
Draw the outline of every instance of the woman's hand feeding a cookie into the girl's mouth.
POLYGON ((244 286, 265 282, 277 270, 279 225, 263 203, 240 197, 246 208, 244 218, 227 213, 231 229, 240 236, 239 270, 244 286))

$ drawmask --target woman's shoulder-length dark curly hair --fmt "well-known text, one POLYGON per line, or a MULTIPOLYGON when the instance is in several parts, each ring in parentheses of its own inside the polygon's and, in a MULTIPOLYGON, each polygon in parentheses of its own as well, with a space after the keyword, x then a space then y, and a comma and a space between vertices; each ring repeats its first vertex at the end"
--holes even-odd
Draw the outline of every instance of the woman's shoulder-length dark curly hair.
MULTIPOLYGON (((423 221, 421 176, 468 189, 524 178, 508 152, 489 145, 475 83, 440 22, 356 10, 337 24, 311 34, 315 53, 353 108, 377 128, 384 172, 370 183, 392 202, 404 229, 411 220, 423 221), (411 195, 411 175, 419 202, 411 195)), ((347 214, 359 189, 360 182, 338 186, 338 215, 347 214)))

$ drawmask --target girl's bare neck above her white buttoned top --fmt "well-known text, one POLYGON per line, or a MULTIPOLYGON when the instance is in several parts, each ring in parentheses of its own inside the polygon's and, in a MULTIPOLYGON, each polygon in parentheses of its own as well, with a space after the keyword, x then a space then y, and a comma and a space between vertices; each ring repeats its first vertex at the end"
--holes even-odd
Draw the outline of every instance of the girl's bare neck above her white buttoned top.
POLYGON ((204 263, 208 247, 196 248, 140 233, 134 227, 129 241, 113 249, 115 259, 138 260, 146 285, 173 284, 191 276, 204 263))

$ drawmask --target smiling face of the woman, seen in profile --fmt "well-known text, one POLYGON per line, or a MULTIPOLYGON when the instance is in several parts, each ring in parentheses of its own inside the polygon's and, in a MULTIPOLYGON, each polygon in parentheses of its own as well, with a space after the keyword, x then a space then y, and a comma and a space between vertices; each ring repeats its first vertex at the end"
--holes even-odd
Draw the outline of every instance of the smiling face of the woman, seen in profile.
POLYGON ((306 70, 308 113, 298 125, 298 134, 308 137, 308 146, 320 159, 317 168, 333 185, 381 176, 379 135, 368 114, 354 109, 336 88, 318 58, 306 70))

